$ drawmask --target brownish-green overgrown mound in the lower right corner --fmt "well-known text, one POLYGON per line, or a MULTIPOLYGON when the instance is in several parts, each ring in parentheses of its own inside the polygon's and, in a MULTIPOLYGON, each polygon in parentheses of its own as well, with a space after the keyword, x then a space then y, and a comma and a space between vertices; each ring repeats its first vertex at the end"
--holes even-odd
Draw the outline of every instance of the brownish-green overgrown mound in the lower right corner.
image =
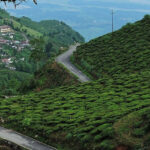
POLYGON ((133 112, 114 124, 118 141, 132 149, 150 148, 150 107, 133 112))

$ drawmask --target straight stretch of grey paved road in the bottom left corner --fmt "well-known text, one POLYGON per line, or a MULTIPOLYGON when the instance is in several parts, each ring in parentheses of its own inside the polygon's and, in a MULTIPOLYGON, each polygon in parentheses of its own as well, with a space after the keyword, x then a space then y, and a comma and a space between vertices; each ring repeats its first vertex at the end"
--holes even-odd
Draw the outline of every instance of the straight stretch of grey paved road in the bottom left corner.
POLYGON ((0 138, 19 145, 27 150, 56 150, 51 146, 3 127, 0 127, 0 138))

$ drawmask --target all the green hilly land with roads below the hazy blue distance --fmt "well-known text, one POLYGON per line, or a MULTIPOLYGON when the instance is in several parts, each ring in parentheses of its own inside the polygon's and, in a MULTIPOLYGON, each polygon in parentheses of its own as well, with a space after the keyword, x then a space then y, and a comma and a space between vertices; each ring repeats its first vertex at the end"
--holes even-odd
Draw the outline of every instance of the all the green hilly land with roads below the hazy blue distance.
POLYGON ((85 43, 62 21, 0 12, 2 139, 36 150, 150 149, 150 15, 85 43))

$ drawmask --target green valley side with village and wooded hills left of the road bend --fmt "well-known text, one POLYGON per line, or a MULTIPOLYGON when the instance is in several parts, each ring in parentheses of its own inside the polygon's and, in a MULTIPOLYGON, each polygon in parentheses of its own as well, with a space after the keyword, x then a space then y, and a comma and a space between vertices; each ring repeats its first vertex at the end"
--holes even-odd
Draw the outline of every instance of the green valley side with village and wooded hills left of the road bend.
POLYGON ((46 59, 38 62, 39 67, 46 65, 48 59, 53 59, 74 42, 84 42, 79 33, 63 22, 35 22, 27 17, 10 16, 0 9, 0 95, 20 94, 20 90, 34 80, 37 70, 36 63, 30 58, 33 47, 29 41, 40 37, 44 37, 46 59))

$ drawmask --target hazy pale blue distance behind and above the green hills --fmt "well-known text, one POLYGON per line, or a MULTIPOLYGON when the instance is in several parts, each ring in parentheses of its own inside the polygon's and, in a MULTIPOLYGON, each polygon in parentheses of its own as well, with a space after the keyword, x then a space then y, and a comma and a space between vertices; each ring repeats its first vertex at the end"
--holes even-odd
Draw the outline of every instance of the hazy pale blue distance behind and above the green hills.
POLYGON ((6 9, 14 16, 27 16, 36 21, 64 21, 88 41, 111 32, 112 9, 115 11, 114 29, 117 30, 149 14, 150 0, 39 0, 37 6, 30 1, 17 9, 13 6, 6 9))

